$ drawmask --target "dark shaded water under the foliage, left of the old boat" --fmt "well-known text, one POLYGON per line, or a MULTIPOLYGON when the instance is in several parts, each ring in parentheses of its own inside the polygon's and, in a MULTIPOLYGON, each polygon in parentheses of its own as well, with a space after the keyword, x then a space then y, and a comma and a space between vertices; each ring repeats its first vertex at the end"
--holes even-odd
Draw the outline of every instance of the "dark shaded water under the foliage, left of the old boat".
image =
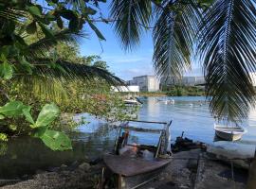
MULTIPOLYGON (((90 126, 86 126, 91 129, 90 126)), ((38 169, 47 170, 61 164, 98 158, 112 149, 115 129, 101 124, 94 132, 80 130, 69 133, 73 150, 52 151, 41 140, 30 137, 15 138, 7 144, 0 143, 0 179, 17 179, 34 174, 38 169)))

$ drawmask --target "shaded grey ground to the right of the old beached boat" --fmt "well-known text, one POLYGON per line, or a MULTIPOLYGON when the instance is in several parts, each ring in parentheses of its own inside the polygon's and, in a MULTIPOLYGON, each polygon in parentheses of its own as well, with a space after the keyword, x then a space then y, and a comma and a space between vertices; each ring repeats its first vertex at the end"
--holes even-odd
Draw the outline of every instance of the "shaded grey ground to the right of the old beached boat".
MULTIPOLYGON (((210 160, 197 159, 200 149, 174 154, 174 161, 154 181, 142 189, 244 189, 247 183, 247 170, 210 160), (177 159, 175 159, 177 158, 177 159), (232 176, 234 180, 232 180, 232 176)), ((204 157, 201 157, 204 158, 204 157)))

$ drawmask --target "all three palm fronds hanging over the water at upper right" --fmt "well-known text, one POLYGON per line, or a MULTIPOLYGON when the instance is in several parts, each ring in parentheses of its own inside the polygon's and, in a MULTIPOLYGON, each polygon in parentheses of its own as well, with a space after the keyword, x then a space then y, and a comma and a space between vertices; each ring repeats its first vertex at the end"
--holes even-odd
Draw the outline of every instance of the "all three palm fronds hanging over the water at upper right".
POLYGON ((249 77, 256 65, 255 6, 255 0, 113 0, 111 16, 125 49, 136 46, 141 33, 153 28, 159 77, 182 76, 190 69, 196 46, 210 112, 237 121, 246 118, 255 103, 249 77))

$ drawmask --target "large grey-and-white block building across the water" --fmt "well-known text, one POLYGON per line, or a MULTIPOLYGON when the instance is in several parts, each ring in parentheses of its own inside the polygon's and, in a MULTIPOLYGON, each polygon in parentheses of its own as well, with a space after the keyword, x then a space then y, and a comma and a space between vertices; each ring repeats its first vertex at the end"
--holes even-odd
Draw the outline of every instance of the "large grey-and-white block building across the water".
POLYGON ((159 82, 155 76, 134 77, 133 80, 127 81, 128 85, 137 85, 141 92, 159 91, 159 82))

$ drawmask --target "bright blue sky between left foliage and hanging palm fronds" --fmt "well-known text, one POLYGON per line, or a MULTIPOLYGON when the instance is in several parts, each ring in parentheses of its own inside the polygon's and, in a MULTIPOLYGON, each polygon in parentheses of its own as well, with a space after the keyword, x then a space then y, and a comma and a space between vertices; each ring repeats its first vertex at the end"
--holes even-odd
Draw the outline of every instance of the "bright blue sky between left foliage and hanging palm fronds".
MULTIPOLYGON (((108 10, 107 4, 101 4, 101 11, 105 18, 108 18, 108 10)), ((140 45, 133 51, 125 52, 121 49, 119 39, 111 24, 97 23, 96 26, 101 30, 106 41, 100 43, 96 34, 85 25, 84 29, 89 34, 89 39, 82 40, 80 45, 82 55, 100 55, 102 60, 107 61, 110 70, 117 77, 125 80, 142 75, 155 75, 152 62, 154 47, 151 31, 142 36, 140 45)), ((192 63, 192 72, 185 75, 202 76, 201 68, 192 63)))

